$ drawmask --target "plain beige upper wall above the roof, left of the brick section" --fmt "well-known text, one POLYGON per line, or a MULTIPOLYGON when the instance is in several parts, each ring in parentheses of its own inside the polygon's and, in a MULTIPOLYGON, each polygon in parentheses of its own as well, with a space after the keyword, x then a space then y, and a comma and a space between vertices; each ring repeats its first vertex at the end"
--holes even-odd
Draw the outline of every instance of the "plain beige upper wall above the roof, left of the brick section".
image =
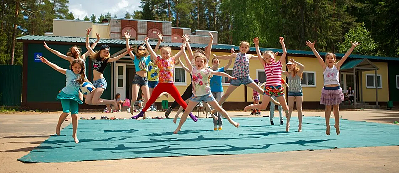
MULTIPOLYGON (((91 21, 76 21, 76 20, 53 20, 53 36, 70 36, 70 37, 86 37, 86 29, 93 27, 91 21)), ((96 37, 93 32, 89 37, 96 37)))

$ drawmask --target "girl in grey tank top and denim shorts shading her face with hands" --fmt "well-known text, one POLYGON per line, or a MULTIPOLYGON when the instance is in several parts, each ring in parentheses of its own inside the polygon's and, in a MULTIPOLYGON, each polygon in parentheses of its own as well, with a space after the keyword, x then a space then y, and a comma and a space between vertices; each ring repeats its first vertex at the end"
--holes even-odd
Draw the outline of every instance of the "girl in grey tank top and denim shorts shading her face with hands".
POLYGON ((296 110, 298 111, 298 120, 299 126, 298 131, 302 132, 302 101, 303 101, 303 93, 302 93, 302 73, 305 68, 299 62, 296 62, 294 59, 289 59, 289 62, 286 64, 288 71, 283 72, 288 78, 288 84, 290 85, 288 90, 288 105, 289 105, 289 116, 287 117, 287 126, 289 127, 289 121, 292 116, 292 110, 294 109, 294 102, 296 101, 296 110), (298 68, 299 67, 299 68, 298 68))

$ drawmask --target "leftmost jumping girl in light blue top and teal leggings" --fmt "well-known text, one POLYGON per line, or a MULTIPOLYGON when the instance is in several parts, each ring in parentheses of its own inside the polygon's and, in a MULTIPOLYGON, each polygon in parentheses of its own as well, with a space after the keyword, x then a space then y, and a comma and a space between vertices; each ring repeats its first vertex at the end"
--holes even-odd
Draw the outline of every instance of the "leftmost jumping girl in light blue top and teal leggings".
POLYGON ((72 137, 75 140, 75 143, 79 143, 77 138, 77 129, 78 129, 78 112, 79 112, 79 104, 83 104, 82 100, 79 99, 79 87, 80 84, 83 83, 85 79, 85 66, 81 59, 75 59, 72 61, 70 65, 70 69, 63 69, 56 64, 51 63, 44 57, 40 57, 40 60, 57 70, 58 72, 66 75, 66 84, 65 87, 61 90, 61 92, 57 95, 57 100, 61 101, 62 104, 62 114, 59 116, 58 124, 56 127, 56 134, 60 135, 61 125, 65 121, 66 117, 68 117, 69 113, 72 114, 72 127, 73 133, 72 137))

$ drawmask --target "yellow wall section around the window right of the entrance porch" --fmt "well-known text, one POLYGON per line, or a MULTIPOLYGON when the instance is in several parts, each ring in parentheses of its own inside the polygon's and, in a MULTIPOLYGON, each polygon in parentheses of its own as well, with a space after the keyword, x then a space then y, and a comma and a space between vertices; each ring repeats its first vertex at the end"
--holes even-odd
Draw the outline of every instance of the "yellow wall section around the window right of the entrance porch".
MULTIPOLYGON (((389 88, 388 88, 388 64, 386 62, 372 62, 380 70, 377 71, 377 75, 381 75, 381 89, 378 89, 378 101, 388 101, 389 88)), ((375 99, 375 88, 366 88, 366 74, 375 74, 375 71, 366 71, 362 73, 362 84, 363 84, 363 101, 376 101, 375 99)))

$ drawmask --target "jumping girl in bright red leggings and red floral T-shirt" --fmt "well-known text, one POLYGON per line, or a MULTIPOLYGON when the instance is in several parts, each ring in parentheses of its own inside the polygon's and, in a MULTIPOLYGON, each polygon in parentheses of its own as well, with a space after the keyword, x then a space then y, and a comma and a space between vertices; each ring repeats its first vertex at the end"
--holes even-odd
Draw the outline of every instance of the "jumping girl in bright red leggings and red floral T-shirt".
MULTIPOLYGON (((174 86, 174 81, 173 81, 174 62, 181 55, 182 52, 180 51, 175 56, 171 56, 171 47, 162 47, 161 48, 162 56, 157 55, 155 54, 148 40, 149 38, 146 37, 144 42, 147 44, 148 50, 150 51, 151 54, 151 58, 155 59, 155 63, 159 68, 159 83, 157 87, 154 88, 154 91, 148 102, 146 102, 146 105, 143 108, 143 110, 141 110, 139 114, 131 117, 131 119, 137 119, 139 117, 143 117, 145 111, 147 111, 147 109, 150 108, 150 106, 155 102, 157 97, 162 92, 168 92, 169 94, 171 94, 171 96, 178 102, 178 104, 183 106, 184 109, 187 107, 187 104, 180 97, 180 93, 177 90, 176 86, 174 86)), ((190 112, 190 117, 194 120, 194 122, 198 121, 198 118, 195 117, 191 112, 190 112)))

